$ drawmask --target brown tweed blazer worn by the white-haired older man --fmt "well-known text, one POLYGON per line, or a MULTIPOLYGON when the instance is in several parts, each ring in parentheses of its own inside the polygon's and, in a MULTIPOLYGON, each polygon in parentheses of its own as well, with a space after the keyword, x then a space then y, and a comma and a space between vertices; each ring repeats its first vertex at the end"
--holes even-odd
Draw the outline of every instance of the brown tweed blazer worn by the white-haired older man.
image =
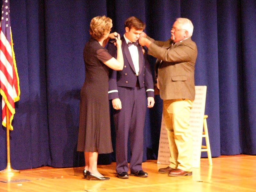
POLYGON ((147 38, 152 42, 148 54, 162 60, 156 68, 161 99, 195 100, 196 43, 191 38, 174 45, 171 39, 155 41, 147 38))

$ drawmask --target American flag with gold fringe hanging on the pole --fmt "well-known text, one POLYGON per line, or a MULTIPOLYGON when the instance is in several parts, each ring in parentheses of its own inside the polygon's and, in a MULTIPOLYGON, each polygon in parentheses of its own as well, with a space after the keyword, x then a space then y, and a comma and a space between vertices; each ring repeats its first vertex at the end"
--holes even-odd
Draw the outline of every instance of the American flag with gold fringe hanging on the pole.
POLYGON ((2 95, 2 124, 5 127, 9 127, 10 130, 13 130, 12 119, 15 113, 14 102, 20 100, 20 86, 13 51, 9 0, 2 1, 0 31, 0 92, 2 95), (6 124, 7 108, 9 112, 9 125, 6 124))

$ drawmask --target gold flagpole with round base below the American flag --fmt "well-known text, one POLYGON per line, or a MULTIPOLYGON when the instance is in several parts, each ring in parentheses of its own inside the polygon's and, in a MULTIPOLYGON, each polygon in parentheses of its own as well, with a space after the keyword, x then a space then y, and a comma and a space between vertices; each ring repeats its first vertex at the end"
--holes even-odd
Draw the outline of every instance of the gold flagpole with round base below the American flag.
POLYGON ((10 121, 9 121, 9 109, 6 106, 6 146, 7 146, 7 165, 6 168, 0 171, 0 174, 8 174, 8 173, 20 173, 19 170, 12 169, 11 161, 10 161, 10 121))

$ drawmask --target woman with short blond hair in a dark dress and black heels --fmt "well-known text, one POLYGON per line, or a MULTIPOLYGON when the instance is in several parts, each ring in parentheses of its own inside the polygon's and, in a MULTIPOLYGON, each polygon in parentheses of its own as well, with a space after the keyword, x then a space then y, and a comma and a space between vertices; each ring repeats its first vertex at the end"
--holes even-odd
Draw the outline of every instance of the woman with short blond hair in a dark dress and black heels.
POLYGON ((84 46, 85 81, 81 89, 77 151, 84 152, 84 178, 108 180, 97 169, 99 153, 111 153, 108 73, 109 68, 122 70, 124 66, 122 41, 111 33, 112 20, 94 17, 90 24, 91 38, 84 46), (105 49, 109 38, 116 38, 117 58, 105 49))

